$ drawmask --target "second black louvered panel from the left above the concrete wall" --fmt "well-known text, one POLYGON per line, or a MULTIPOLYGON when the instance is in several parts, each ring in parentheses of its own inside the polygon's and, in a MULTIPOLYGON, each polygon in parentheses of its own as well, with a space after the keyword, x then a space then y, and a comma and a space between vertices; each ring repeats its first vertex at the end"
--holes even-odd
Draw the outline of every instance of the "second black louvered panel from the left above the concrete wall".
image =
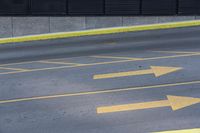
POLYGON ((32 14, 66 14, 66 0, 31 0, 32 14))

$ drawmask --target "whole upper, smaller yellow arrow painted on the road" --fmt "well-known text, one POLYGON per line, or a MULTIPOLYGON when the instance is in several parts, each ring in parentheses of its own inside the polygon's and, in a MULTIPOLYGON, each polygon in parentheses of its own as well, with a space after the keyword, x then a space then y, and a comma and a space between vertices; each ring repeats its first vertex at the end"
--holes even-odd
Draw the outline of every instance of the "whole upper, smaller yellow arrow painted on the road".
POLYGON ((128 72, 118 72, 118 73, 108 73, 108 74, 99 74, 94 75, 93 79, 107 79, 107 78, 117 78, 117 77, 126 77, 126 76, 137 76, 137 75, 146 75, 154 74, 155 77, 160 77, 165 74, 176 72, 181 70, 180 67, 163 67, 163 66, 151 66, 151 69, 147 70, 138 70, 138 71, 128 71, 128 72))

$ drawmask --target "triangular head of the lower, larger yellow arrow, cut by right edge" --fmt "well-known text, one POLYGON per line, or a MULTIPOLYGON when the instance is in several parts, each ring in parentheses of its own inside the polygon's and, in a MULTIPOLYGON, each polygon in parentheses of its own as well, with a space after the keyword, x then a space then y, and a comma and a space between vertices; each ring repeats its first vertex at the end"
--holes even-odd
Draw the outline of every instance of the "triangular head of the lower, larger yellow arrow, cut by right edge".
POLYGON ((176 111, 200 102, 200 98, 182 97, 182 96, 167 96, 172 110, 176 111))

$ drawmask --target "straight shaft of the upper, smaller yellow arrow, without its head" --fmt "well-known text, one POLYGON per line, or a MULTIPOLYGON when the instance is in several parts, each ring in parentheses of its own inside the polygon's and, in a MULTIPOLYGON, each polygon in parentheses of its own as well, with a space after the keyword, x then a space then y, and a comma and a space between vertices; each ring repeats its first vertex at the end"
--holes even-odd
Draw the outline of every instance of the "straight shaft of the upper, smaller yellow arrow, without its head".
POLYGON ((137 75, 145 75, 145 74, 153 74, 153 73, 154 72, 152 69, 147 69, 147 70, 139 70, 139 71, 99 74, 99 75, 94 75, 93 79, 118 78, 118 77, 137 76, 137 75))

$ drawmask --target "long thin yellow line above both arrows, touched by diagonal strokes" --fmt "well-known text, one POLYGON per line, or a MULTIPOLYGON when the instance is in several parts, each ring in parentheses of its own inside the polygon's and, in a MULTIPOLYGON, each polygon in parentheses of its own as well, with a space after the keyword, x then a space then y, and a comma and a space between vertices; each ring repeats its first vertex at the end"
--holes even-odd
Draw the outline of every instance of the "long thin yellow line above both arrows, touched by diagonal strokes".
POLYGON ((96 65, 107 65, 107 64, 116 64, 116 63, 127 63, 127 62, 134 62, 134 61, 171 59, 171 58, 190 57, 190 56, 199 56, 199 55, 200 55, 200 53, 194 53, 194 54, 183 54, 183 55, 144 58, 143 60, 119 60, 119 61, 110 61, 110 62, 99 62, 99 63, 83 64, 83 65, 76 65, 76 66, 60 66, 60 67, 51 67, 51 68, 32 69, 32 70, 21 71, 21 72, 12 72, 12 73, 10 73, 10 72, 6 73, 5 72, 5 73, 0 73, 0 75, 17 74, 17 73, 25 73, 25 72, 37 72, 37 71, 45 71, 45 70, 57 70, 57 69, 75 68, 75 67, 87 67, 87 66, 96 66, 96 65))

